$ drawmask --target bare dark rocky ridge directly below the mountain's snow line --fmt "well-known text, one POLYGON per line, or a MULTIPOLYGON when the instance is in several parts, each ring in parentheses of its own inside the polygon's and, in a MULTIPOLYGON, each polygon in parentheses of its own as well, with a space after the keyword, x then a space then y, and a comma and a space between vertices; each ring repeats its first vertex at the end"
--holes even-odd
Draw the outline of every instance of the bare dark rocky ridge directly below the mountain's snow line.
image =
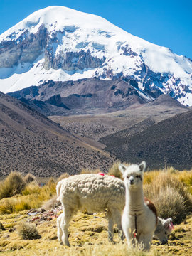
POLYGON ((153 92, 140 90, 133 79, 110 81, 98 78, 66 82, 48 80, 39 86, 9 92, 9 95, 46 115, 114 112, 144 104, 155 97, 153 92))

